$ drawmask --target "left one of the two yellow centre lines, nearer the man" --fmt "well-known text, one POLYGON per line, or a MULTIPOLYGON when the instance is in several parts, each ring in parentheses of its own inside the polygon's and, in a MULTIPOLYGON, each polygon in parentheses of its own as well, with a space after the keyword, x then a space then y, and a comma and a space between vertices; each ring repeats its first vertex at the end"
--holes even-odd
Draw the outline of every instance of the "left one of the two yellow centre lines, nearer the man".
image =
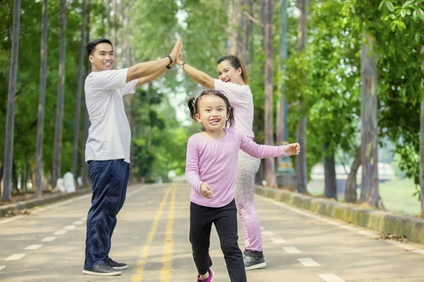
POLYGON ((158 230, 158 223, 160 221, 160 216, 162 215, 163 208, 167 202, 167 197, 170 195, 172 187, 168 187, 165 195, 163 195, 162 202, 160 202, 158 212, 156 212, 155 220, 153 221, 153 226, 151 231, 148 233, 146 244, 143 247, 143 252, 141 252, 141 256, 137 265, 139 268, 136 269, 136 273, 131 277, 132 282, 141 282, 144 279, 144 267, 146 266, 146 259, 148 258, 148 252, 151 247, 151 243, 153 242, 153 237, 155 236, 156 231, 158 230))

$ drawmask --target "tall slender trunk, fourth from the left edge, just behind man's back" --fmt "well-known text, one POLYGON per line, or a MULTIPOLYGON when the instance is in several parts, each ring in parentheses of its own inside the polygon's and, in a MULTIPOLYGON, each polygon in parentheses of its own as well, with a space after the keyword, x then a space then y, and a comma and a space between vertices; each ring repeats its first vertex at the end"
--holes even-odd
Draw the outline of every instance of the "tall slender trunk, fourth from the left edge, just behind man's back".
POLYGON ((76 90, 76 108, 75 108, 75 125, 73 128, 73 154, 72 154, 72 174, 73 182, 78 187, 76 164, 78 163, 78 144, 79 144, 79 128, 80 128, 80 116, 81 116, 81 92, 83 89, 83 68, 85 56, 85 39, 86 39, 86 13, 87 5, 86 0, 83 0, 83 25, 81 25, 81 45, 80 45, 80 57, 78 62, 78 89, 76 90))

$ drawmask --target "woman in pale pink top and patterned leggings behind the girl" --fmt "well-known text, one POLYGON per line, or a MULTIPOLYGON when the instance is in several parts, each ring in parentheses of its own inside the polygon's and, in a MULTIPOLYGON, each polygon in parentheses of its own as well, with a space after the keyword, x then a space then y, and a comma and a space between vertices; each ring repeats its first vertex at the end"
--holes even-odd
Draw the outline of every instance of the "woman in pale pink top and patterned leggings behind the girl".
MULTIPOLYGON (((244 64, 237 56, 224 56, 218 60, 218 78, 211 78, 182 60, 179 52, 176 63, 190 78, 204 87, 215 88, 228 95, 230 104, 235 108, 234 128, 245 133, 252 140, 253 95, 249 87, 249 75, 244 64)), ((259 269, 266 265, 262 252, 261 226, 254 205, 254 176, 259 170, 260 159, 250 157, 242 150, 238 153, 235 181, 235 202, 245 238, 245 269, 259 269)))

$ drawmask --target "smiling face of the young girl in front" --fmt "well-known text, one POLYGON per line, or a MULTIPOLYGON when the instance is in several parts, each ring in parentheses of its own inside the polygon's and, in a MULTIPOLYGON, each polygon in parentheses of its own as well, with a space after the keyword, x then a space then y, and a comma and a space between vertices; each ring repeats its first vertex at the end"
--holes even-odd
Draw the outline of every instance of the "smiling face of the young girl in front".
POLYGON ((201 123, 207 133, 223 130, 229 114, 223 99, 216 95, 205 95, 199 99, 199 112, 196 120, 201 123))

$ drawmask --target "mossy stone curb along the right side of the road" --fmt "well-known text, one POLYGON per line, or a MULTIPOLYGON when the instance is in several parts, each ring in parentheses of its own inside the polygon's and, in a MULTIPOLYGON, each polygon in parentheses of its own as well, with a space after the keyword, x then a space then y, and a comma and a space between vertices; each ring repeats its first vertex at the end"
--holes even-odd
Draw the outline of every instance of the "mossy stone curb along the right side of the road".
POLYGON ((339 203, 334 200, 316 198, 298 194, 297 192, 263 186, 256 186, 255 192, 258 195, 279 202, 285 202, 290 206, 310 210, 315 214, 331 216, 356 226, 405 237, 411 242, 424 245, 424 219, 375 209, 365 209, 351 204, 339 203))

